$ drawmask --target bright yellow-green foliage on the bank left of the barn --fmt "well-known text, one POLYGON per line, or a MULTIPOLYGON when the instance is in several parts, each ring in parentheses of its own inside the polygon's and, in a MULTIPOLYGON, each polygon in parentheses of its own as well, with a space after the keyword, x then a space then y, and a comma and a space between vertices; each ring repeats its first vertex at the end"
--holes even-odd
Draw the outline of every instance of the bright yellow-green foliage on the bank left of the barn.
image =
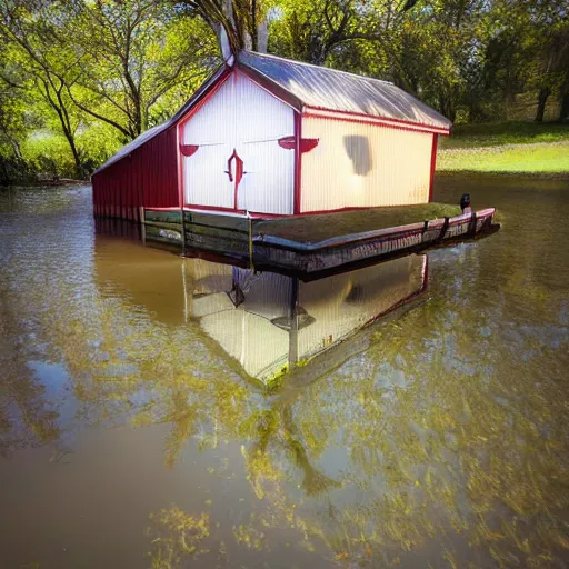
POLYGON ((30 172, 49 163, 47 176, 87 177, 169 118, 217 64, 208 26, 152 0, 2 0, 0 47, 2 161, 30 172), (50 134, 42 148, 30 142, 27 162, 20 147, 38 129, 50 134))

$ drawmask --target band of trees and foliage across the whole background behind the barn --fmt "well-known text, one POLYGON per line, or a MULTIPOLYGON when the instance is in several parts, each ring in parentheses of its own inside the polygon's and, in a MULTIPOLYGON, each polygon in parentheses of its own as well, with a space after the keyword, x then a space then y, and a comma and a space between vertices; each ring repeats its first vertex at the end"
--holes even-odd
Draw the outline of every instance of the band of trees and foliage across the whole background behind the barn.
POLYGON ((87 178, 221 63, 222 30, 457 122, 569 119, 567 0, 0 0, 0 184, 87 178))

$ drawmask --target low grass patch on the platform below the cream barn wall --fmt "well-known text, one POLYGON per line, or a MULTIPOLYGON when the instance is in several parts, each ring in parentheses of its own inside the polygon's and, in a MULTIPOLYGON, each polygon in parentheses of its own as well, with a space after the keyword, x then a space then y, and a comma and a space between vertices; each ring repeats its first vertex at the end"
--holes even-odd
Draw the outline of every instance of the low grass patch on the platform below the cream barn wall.
POLYGON ((321 216, 271 219, 256 223, 254 232, 292 241, 316 243, 332 237, 418 223, 446 216, 458 216, 459 213, 460 208, 458 206, 446 203, 372 208, 321 216))

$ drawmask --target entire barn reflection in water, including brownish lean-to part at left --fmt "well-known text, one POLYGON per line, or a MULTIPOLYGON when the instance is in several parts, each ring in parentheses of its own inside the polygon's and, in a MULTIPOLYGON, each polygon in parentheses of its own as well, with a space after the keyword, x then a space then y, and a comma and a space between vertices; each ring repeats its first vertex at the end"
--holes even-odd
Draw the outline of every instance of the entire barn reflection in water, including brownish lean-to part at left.
POLYGON ((142 308, 169 326, 193 321, 260 379, 337 343, 427 284, 425 256, 302 282, 164 256, 116 239, 100 223, 98 231, 94 274, 102 296, 120 290, 132 310, 142 308))

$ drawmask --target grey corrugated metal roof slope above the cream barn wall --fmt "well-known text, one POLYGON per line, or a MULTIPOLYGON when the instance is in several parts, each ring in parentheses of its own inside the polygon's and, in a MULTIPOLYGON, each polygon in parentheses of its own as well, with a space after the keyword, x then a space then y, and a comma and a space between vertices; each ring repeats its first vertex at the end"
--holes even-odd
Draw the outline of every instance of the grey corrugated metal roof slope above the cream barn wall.
POLYGON ((398 119, 449 129, 452 122, 388 81, 242 51, 238 61, 262 73, 307 107, 398 119))

